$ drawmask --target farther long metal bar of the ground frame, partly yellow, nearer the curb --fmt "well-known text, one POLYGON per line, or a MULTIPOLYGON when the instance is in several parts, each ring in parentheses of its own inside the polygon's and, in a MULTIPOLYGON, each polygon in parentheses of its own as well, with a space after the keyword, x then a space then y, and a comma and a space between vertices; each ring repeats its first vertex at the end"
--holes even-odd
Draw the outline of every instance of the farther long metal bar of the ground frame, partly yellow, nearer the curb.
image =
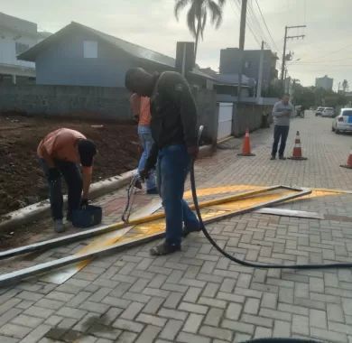
MULTIPOLYGON (((200 209, 202 209, 202 208, 205 208, 208 206, 213 206, 213 205, 218 205, 221 203, 234 201, 236 199, 242 199, 242 198, 246 198, 246 197, 255 196, 255 195, 258 195, 258 194, 261 194, 264 192, 268 192, 271 190, 278 190, 280 188, 285 189, 286 187, 285 186, 273 186, 273 187, 267 187, 267 188, 264 188, 261 190, 251 190, 251 191, 236 194, 236 195, 226 197, 226 198, 204 201, 199 204, 199 207, 200 207, 200 209)), ((288 189, 289 190, 296 190, 296 191, 301 190, 301 189, 296 189, 296 188, 288 188, 288 189)), ((191 209, 193 209, 193 207, 191 207, 191 209)), ((164 218, 164 214, 163 213, 156 213, 156 214, 153 214, 153 215, 147 216, 147 217, 135 218, 133 220, 130 220, 128 223, 118 222, 113 225, 91 228, 91 229, 88 229, 88 230, 85 230, 85 231, 82 231, 82 232, 79 232, 76 234, 67 235, 67 236, 60 236, 60 237, 45 240, 42 242, 33 243, 32 245, 29 245, 29 246, 16 247, 14 249, 9 249, 9 250, 5 250, 5 251, 0 252, 0 260, 5 259, 5 258, 9 258, 9 257, 13 257, 15 255, 23 255, 23 254, 33 253, 35 251, 44 250, 44 249, 51 249, 51 248, 57 247, 57 246, 69 245, 70 243, 77 242, 77 241, 85 239, 85 238, 90 238, 93 236, 105 234, 107 232, 114 231, 118 228, 130 227, 130 226, 144 223, 145 221, 153 221, 153 220, 159 219, 159 218, 164 218)))

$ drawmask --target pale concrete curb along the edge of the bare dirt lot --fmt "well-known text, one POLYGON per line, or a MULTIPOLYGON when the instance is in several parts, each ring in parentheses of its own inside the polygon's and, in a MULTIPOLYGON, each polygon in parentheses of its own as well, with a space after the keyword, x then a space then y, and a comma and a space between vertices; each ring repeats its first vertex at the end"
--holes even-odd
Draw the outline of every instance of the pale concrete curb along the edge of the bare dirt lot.
MULTIPOLYGON (((201 146, 199 149, 199 158, 211 156, 215 150, 216 147, 214 148, 212 145, 201 146)), ((128 184, 129 181, 131 181, 134 173, 135 170, 93 183, 90 186, 89 198, 97 199, 114 190, 119 190, 128 184)), ((66 203, 66 197, 64 198, 64 201, 66 203)), ((18 227, 28 221, 39 219, 49 214, 49 199, 42 200, 41 202, 37 202, 23 209, 18 209, 14 212, 7 213, 5 216, 3 216, 3 218, 6 219, 0 222, 0 232, 5 229, 18 227)))

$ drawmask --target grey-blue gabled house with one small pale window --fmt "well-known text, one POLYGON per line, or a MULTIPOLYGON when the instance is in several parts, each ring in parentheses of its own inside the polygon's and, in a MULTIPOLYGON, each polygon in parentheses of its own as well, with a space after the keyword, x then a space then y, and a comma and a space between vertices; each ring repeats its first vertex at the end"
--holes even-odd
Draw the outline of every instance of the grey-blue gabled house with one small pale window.
POLYGON ((19 58, 35 62, 39 85, 125 87, 125 72, 132 67, 175 67, 171 57, 74 22, 19 58))

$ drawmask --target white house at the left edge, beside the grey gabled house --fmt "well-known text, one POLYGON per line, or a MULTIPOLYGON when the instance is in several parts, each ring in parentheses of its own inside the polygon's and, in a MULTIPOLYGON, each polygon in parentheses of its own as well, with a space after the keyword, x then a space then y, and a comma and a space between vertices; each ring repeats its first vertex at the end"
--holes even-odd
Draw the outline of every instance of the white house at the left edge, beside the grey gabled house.
POLYGON ((35 63, 17 60, 17 55, 47 35, 37 32, 36 23, 0 13, 0 84, 35 78, 35 63))

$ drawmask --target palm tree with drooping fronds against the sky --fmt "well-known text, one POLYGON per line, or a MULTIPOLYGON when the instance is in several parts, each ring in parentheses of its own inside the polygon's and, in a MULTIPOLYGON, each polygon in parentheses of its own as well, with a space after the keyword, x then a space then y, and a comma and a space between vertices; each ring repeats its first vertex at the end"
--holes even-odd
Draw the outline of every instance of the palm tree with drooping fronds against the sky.
POLYGON ((190 33, 196 39, 194 47, 194 60, 196 60, 199 38, 203 39, 204 29, 207 24, 208 13, 211 15, 211 23, 216 29, 222 22, 222 8, 226 0, 175 0, 174 13, 177 20, 182 9, 190 5, 187 14, 187 25, 190 33))

